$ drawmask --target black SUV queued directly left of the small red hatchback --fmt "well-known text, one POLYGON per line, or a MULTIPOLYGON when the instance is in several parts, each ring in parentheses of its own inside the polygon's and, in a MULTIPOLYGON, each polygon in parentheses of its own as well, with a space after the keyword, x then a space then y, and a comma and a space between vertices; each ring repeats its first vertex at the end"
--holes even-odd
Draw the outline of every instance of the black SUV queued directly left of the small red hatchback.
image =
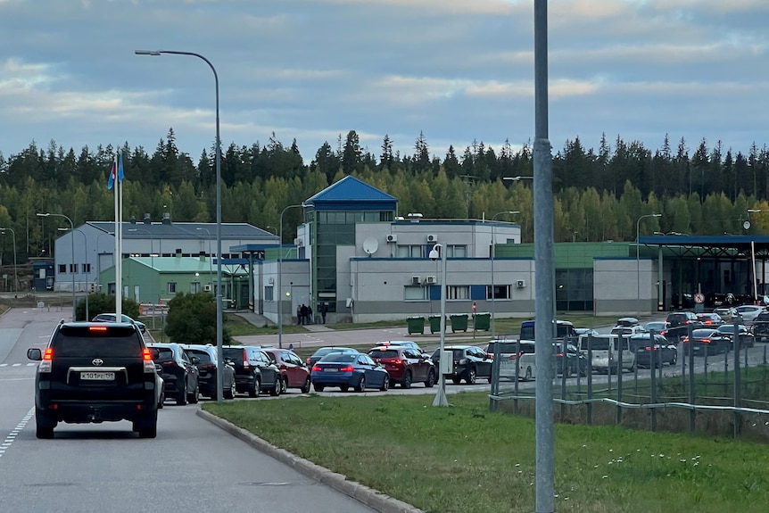
POLYGON ((259 397, 262 392, 280 395, 283 390, 280 369, 270 360, 264 348, 258 345, 225 345, 222 352, 235 366, 237 393, 247 393, 249 397, 259 397))

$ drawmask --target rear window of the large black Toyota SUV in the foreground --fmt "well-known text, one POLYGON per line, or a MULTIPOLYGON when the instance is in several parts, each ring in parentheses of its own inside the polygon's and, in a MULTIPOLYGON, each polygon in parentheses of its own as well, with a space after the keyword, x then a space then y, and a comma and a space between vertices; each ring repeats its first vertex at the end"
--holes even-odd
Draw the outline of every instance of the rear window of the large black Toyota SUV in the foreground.
POLYGON ((92 331, 88 327, 62 327, 52 343, 56 356, 119 358, 140 357, 143 344, 134 328, 109 327, 92 331))

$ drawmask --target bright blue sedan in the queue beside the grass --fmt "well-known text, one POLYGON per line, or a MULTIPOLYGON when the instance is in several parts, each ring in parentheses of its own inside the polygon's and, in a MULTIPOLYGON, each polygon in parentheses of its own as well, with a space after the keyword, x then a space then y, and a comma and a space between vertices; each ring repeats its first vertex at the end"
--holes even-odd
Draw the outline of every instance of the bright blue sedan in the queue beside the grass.
POLYGON ((390 388, 390 375, 384 367, 360 352, 327 354, 312 366, 310 379, 315 392, 323 392, 327 386, 338 386, 342 392, 347 392, 350 387, 355 392, 363 392, 366 388, 390 388))

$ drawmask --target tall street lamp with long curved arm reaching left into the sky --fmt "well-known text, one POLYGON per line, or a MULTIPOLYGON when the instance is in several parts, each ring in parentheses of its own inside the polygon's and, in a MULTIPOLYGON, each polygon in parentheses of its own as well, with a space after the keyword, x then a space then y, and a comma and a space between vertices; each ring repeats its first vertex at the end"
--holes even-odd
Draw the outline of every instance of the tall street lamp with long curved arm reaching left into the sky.
POLYGON ((136 50, 136 55, 190 55, 203 60, 213 71, 214 85, 216 87, 216 401, 224 402, 223 395, 223 364, 224 350, 222 349, 222 339, 224 338, 224 316, 222 315, 221 305, 221 139, 219 138, 219 75, 211 61, 201 54, 194 52, 178 52, 175 50, 136 50))

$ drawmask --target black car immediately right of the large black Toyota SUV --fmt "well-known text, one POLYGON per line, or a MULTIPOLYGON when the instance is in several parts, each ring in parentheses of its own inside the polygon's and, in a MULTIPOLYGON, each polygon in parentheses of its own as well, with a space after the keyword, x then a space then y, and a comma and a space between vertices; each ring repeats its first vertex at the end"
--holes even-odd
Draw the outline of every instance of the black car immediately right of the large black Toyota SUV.
POLYGON ((161 366, 166 397, 175 399, 178 406, 196 403, 200 397, 197 357, 190 358, 178 343, 148 343, 147 347, 161 366))

